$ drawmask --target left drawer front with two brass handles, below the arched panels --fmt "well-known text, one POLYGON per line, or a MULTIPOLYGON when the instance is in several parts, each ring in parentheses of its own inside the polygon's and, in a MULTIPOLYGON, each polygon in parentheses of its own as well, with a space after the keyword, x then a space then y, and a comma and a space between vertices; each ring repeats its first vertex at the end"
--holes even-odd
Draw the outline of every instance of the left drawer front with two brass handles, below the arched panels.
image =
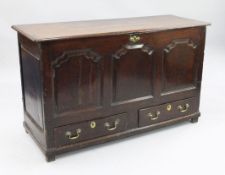
POLYGON ((55 144, 63 146, 126 130, 127 114, 55 128, 55 144))

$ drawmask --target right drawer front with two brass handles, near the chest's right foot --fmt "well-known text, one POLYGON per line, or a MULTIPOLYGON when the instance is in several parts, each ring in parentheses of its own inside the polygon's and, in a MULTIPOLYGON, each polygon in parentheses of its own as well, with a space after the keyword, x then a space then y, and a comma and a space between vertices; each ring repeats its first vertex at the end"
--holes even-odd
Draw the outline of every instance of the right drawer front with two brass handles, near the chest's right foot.
POLYGON ((139 110, 139 127, 152 125, 198 111, 197 98, 189 98, 139 110))

